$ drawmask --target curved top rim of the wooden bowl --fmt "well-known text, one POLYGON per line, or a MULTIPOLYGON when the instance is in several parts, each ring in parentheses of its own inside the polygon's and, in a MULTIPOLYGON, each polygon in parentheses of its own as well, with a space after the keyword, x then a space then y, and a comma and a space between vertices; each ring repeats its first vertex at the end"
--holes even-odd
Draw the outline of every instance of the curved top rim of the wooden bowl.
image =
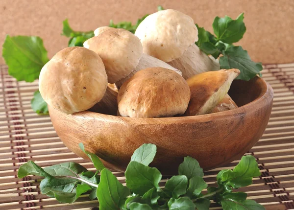
MULTIPOLYGON (((170 123, 186 123, 188 121, 206 121, 208 119, 213 118, 220 118, 220 117, 227 117, 227 116, 232 116, 232 115, 240 115, 244 114, 245 110, 250 110, 250 109, 256 109, 258 107, 264 106, 264 103, 260 103, 262 101, 268 101, 268 98, 272 99, 273 98, 273 90, 268 82, 266 82, 263 78, 256 76, 257 81, 262 83, 261 86, 261 93, 257 98, 255 98, 253 101, 238 107, 237 109, 233 110, 228 110, 228 111, 223 111, 223 112, 218 112, 218 113, 210 113, 210 114, 205 114, 205 115, 198 115, 198 116, 181 116, 181 117, 153 117, 153 118, 136 118, 136 117, 122 117, 122 116, 113 116, 113 115, 105 115, 101 113, 96 113, 96 112, 91 112, 91 111, 82 111, 82 112, 77 112, 70 114, 68 116, 71 117, 76 117, 76 118, 101 118, 103 120, 109 120, 111 121, 116 121, 117 120, 124 120, 128 121, 129 123, 134 123, 134 124, 158 124, 158 123, 163 123, 163 124, 169 124, 170 123)), ((255 77, 255 78, 256 78, 255 77)), ((51 107, 50 107, 51 108, 51 107)), ((53 108, 52 108, 53 109, 53 108)))

